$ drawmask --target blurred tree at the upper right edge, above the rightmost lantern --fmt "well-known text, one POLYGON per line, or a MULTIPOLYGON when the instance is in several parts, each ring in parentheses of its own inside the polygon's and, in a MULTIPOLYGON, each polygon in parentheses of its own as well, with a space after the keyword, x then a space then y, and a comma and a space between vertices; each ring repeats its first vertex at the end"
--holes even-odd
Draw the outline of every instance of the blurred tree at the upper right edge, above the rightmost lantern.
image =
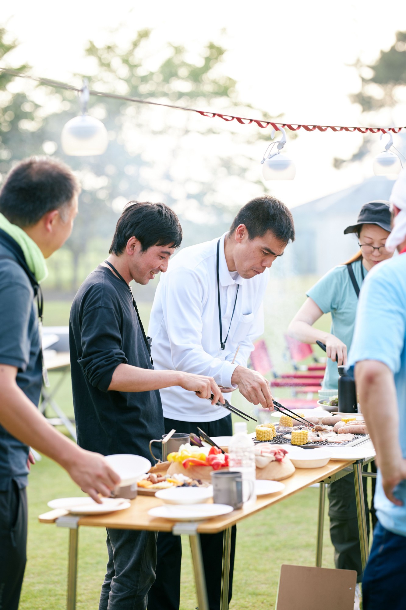
MULTIPOLYGON (((404 99, 406 88, 406 32, 396 32, 396 41, 388 51, 380 51, 372 65, 360 59, 354 67, 361 79, 358 93, 350 95, 353 104, 360 104, 363 124, 382 127, 393 125, 392 111, 404 99)), ((366 134, 363 143, 351 159, 334 159, 340 168, 350 161, 361 160, 368 154, 373 137, 366 134)))

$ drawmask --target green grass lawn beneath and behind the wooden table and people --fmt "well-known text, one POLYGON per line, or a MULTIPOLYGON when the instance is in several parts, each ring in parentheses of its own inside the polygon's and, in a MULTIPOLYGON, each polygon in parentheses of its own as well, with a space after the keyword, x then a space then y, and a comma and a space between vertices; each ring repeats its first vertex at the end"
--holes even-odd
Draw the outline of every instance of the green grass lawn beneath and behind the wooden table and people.
MULTIPOLYGON (((265 339, 277 370, 290 370, 284 357, 283 333, 305 298, 305 290, 315 278, 272 279, 265 299, 265 339)), ((140 288, 141 292, 142 288, 140 288)), ((140 295, 138 299, 140 300, 140 295)), ((49 301, 45 304, 45 325, 67 325, 70 303, 49 301)), ((148 326, 151 304, 139 304, 141 318, 148 326)), ((320 327, 329 328, 324 316, 320 327)), ((50 374, 51 385, 57 373, 50 374)), ((278 392, 287 395, 288 390, 278 392)), ((57 395, 66 414, 73 414, 70 380, 66 379, 57 395)), ((251 411, 252 405, 236 393, 235 404, 251 411)), ((53 415, 50 413, 50 415, 53 415)), ((21 596, 21 610, 58 610, 65 608, 68 558, 68 531, 38 523, 38 515, 47 510, 52 498, 81 495, 62 468, 43 458, 30 475, 28 562, 21 596)), ((274 608, 282 563, 314 565, 318 489, 307 489, 293 498, 276 504, 238 525, 237 553, 234 570, 233 600, 230 610, 274 608)), ((327 511, 326 511, 327 512, 327 511)), ((323 566, 333 567, 333 549, 324 529, 323 566)), ((105 531, 80 528, 78 610, 98 608, 101 583, 107 562, 105 531)), ((193 571, 188 540, 183 540, 182 610, 196 606, 193 571)))

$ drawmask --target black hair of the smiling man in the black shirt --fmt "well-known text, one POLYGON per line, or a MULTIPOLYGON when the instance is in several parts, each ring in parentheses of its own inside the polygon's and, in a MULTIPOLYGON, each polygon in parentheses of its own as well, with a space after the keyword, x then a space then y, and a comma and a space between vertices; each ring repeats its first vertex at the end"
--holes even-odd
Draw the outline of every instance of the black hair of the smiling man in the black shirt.
POLYGON ((109 253, 123 254, 131 237, 138 239, 143 252, 151 246, 179 248, 182 227, 176 213, 165 203, 130 201, 117 221, 109 253))

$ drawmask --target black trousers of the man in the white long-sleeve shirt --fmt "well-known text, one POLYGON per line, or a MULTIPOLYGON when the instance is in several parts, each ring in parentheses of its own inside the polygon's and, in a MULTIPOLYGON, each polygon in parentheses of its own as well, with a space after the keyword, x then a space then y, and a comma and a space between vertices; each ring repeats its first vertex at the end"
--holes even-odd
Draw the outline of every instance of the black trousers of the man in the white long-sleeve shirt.
MULTIPOLYGON (((198 426, 208 436, 232 436, 231 415, 227 415, 227 417, 223 417, 216 422, 179 422, 165 418, 166 433, 175 428, 176 432, 194 432, 199 435, 198 426)), ((231 531, 229 601, 232 596, 236 534, 237 528, 233 526, 231 531)), ((221 568, 223 565, 223 532, 201 534, 200 541, 207 584, 208 606, 210 610, 219 610, 221 568)), ((148 610, 179 610, 180 562, 182 559, 180 536, 173 536, 173 534, 164 532, 158 533, 157 553, 157 575, 148 594, 148 610)))

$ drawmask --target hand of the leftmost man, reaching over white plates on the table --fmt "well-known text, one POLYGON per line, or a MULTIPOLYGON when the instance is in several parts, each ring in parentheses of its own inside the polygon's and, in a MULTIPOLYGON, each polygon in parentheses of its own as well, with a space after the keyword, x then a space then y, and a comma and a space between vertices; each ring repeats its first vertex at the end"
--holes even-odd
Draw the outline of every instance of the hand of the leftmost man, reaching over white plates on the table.
POLYGON ((77 447, 77 450, 74 458, 63 465, 80 489, 100 504, 98 494, 109 498, 110 492, 118 485, 120 478, 101 454, 85 451, 80 447, 77 447))

